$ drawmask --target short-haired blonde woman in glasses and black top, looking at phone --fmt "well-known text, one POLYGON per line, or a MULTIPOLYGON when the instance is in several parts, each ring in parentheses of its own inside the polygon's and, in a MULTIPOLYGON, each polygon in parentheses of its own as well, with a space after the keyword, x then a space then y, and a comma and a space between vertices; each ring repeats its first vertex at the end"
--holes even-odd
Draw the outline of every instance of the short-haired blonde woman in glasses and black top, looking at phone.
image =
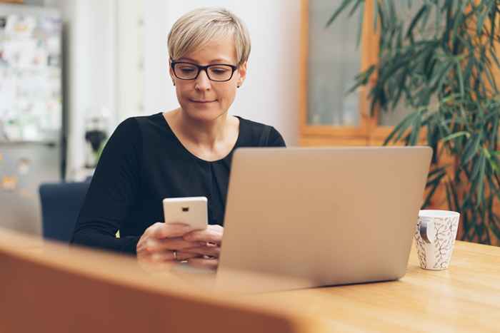
POLYGON ((179 108, 129 118, 116 128, 72 242, 136 254, 140 262, 186 260, 215 268, 234 150, 285 143, 274 128, 228 113, 250 53, 239 18, 225 9, 191 11, 172 27, 168 47, 179 108), (191 196, 208 198, 206 230, 160 222, 164 198, 191 196))

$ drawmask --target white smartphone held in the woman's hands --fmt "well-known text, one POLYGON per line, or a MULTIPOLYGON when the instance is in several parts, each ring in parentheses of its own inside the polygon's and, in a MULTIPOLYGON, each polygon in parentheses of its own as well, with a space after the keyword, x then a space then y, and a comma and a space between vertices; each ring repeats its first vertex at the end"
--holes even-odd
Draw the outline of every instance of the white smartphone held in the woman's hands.
POLYGON ((208 225, 206 197, 165 198, 163 212, 165 223, 181 222, 195 230, 204 230, 208 225))

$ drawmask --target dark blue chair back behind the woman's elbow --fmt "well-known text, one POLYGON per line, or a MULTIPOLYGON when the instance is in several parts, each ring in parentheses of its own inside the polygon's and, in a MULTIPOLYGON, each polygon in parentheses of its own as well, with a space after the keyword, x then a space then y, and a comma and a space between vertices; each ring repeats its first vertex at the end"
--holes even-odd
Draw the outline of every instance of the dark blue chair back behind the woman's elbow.
POLYGON ((41 226, 45 239, 69 244, 90 181, 40 185, 41 226))

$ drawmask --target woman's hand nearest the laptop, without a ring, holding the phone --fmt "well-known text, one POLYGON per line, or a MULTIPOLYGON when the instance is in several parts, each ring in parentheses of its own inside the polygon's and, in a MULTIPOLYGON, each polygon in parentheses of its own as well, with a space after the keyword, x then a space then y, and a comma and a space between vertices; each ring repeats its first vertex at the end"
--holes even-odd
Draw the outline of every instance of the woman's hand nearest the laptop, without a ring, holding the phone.
POLYGON ((209 225, 205 230, 196 230, 186 233, 183 239, 186 242, 196 242, 196 247, 185 247, 181 250, 187 262, 193 267, 210 268, 215 270, 219 266, 219 254, 221 252, 222 234, 224 227, 220 225, 209 225))

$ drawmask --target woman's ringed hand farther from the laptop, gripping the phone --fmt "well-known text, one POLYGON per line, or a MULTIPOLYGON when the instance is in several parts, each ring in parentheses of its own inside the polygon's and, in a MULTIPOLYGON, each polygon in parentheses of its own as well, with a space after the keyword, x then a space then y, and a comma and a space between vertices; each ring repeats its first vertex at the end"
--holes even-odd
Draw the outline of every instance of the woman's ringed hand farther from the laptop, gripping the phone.
POLYGON ((139 263, 157 264, 203 257, 196 252, 184 252, 184 249, 205 247, 206 242, 184 240, 183 236, 192 228, 183 223, 156 222, 144 231, 137 242, 137 260, 139 263))

